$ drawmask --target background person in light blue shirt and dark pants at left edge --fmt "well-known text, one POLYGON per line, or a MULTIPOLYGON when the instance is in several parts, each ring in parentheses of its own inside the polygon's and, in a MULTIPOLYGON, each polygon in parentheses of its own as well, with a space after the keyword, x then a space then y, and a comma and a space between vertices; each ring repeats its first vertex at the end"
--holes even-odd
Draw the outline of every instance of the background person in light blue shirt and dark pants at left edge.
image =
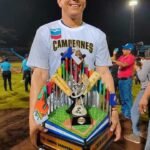
POLYGON ((9 89, 12 91, 12 84, 11 84, 11 64, 8 61, 8 58, 4 58, 3 62, 1 63, 1 71, 4 81, 4 89, 7 91, 7 81, 9 84, 9 89))

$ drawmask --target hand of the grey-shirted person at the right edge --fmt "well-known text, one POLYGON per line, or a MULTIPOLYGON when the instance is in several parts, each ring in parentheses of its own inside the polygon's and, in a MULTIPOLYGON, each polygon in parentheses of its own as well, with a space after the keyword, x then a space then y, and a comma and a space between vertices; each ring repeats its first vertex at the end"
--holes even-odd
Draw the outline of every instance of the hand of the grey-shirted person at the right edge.
POLYGON ((144 114, 147 112, 148 107, 148 99, 145 97, 142 97, 139 103, 139 111, 141 114, 144 114))

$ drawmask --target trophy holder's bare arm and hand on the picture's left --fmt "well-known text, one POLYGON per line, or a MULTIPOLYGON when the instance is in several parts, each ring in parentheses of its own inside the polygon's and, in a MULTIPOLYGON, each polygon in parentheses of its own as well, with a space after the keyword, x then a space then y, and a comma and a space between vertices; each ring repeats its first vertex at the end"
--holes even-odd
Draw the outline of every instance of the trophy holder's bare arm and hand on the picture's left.
POLYGON ((48 70, 34 68, 32 79, 31 79, 31 89, 30 89, 30 112, 29 112, 29 129, 30 129, 30 138, 34 146, 36 146, 37 133, 38 131, 46 132, 42 126, 37 125, 33 118, 34 107, 37 102, 38 94, 41 91, 41 88, 46 83, 48 79, 48 70))

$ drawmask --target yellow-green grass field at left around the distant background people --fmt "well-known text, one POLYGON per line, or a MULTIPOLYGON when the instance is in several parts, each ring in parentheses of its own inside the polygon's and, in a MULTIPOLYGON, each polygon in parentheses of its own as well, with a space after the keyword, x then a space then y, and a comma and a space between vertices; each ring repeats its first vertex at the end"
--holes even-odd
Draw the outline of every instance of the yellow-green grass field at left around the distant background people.
POLYGON ((3 79, 0 75, 0 110, 13 108, 28 108, 29 93, 24 90, 24 82, 22 81, 21 62, 12 63, 12 89, 13 91, 5 91, 3 88, 3 79))

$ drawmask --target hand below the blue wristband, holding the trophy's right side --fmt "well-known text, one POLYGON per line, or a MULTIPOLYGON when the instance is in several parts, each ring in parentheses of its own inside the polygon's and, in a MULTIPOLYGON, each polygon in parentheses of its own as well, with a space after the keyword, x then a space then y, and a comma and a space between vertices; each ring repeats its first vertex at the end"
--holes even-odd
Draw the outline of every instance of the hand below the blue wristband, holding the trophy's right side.
POLYGON ((116 138, 114 139, 114 141, 116 142, 121 137, 121 126, 120 126, 119 116, 117 111, 112 111, 111 122, 112 125, 110 127, 110 131, 114 132, 114 134, 116 135, 116 138))

